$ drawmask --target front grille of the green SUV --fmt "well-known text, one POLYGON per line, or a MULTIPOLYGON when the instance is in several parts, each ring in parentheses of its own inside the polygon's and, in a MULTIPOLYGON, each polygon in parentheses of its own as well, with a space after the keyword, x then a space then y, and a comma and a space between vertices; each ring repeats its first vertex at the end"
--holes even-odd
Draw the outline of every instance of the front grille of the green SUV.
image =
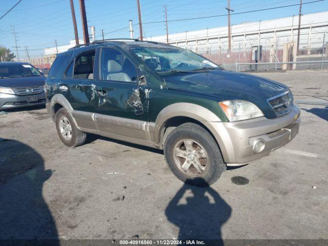
POLYGON ((268 99, 268 103, 274 109, 277 116, 283 115, 291 111, 293 107, 293 96, 290 91, 286 91, 280 95, 268 99))

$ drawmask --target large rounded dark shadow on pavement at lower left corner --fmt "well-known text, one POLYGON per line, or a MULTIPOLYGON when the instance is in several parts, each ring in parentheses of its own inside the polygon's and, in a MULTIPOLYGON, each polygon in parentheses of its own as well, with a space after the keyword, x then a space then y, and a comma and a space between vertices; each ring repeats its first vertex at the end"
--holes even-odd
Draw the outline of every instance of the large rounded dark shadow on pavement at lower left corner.
POLYGON ((59 245, 55 221, 43 197, 52 175, 31 147, 0 141, 0 241, 2 245, 59 245))

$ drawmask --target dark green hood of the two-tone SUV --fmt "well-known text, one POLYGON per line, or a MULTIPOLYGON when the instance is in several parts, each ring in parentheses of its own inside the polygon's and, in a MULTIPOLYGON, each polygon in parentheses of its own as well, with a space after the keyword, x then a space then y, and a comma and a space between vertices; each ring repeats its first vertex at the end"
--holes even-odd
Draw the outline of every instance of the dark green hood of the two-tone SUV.
POLYGON ((168 89, 216 97, 218 100, 248 100, 268 118, 276 117, 267 99, 289 88, 276 81, 228 70, 203 70, 161 75, 168 89))

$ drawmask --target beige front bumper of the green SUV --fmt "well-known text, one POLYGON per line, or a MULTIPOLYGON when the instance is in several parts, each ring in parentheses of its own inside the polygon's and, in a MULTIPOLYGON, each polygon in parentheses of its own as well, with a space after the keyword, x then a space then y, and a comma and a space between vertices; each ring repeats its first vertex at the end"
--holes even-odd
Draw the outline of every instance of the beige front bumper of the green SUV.
POLYGON ((267 156, 290 142, 299 130, 300 109, 294 105, 291 112, 274 119, 260 117, 238 122, 213 122, 213 125, 216 125, 224 145, 223 148, 220 146, 221 151, 224 150, 224 161, 228 166, 241 166, 267 156), (259 139, 265 141, 265 147, 261 152, 255 153, 254 144, 259 139))

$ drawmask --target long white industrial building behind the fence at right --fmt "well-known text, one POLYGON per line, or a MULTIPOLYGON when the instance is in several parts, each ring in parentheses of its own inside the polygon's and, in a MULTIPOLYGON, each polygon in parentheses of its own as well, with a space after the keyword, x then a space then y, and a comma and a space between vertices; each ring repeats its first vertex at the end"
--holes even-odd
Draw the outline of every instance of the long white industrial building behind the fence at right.
MULTIPOLYGON (((323 34, 328 32, 328 12, 304 14, 301 17, 300 49, 322 48, 323 34)), ((231 50, 245 51, 262 45, 281 49, 284 43, 297 42, 298 16, 263 20, 231 26, 231 50)), ((166 35, 148 40, 166 43, 166 35)), ((326 41, 328 37, 326 37, 326 41)), ((198 53, 228 50, 228 27, 186 31, 169 35, 169 43, 198 53)))

